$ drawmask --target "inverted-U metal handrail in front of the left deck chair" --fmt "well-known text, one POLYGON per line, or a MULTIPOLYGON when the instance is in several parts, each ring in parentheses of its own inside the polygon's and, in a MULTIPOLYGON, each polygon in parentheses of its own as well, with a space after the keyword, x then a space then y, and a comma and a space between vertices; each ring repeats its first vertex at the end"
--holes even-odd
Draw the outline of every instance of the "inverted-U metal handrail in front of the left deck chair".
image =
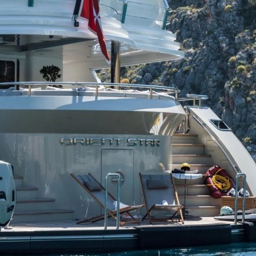
POLYGON ((119 174, 107 174, 105 177, 105 220, 104 229, 108 227, 108 177, 117 176, 117 229, 119 229, 119 218, 120 218, 120 175, 119 174))

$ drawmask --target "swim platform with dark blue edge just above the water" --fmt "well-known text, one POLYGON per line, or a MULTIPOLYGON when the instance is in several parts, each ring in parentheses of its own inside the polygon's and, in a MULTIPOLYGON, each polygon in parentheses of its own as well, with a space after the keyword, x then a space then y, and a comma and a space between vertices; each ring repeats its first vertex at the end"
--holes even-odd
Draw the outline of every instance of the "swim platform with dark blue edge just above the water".
POLYGON ((255 241, 253 222, 214 220, 213 217, 185 218, 185 223, 162 222, 149 225, 104 220, 77 225, 75 220, 10 224, 1 230, 1 254, 6 253, 101 253, 147 250, 164 247, 210 245, 255 241))

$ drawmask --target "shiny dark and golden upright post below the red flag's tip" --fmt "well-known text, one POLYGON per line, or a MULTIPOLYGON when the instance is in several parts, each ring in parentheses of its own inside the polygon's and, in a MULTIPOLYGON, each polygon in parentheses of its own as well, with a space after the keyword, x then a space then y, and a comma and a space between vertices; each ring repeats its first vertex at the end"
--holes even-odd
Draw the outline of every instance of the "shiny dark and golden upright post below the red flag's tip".
MULTIPOLYGON (((120 42, 111 42, 111 82, 120 83, 120 42)), ((115 86, 115 89, 120 89, 115 86)))

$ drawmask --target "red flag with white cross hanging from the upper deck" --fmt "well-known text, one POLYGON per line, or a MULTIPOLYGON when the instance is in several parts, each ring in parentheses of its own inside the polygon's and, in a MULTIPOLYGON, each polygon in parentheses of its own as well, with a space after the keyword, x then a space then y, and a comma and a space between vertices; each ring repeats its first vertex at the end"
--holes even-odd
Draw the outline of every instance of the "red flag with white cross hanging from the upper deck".
POLYGON ((98 36, 101 52, 109 62, 109 53, 106 48, 106 42, 101 26, 100 7, 98 6, 98 0, 84 0, 82 3, 80 16, 88 19, 89 30, 98 36))

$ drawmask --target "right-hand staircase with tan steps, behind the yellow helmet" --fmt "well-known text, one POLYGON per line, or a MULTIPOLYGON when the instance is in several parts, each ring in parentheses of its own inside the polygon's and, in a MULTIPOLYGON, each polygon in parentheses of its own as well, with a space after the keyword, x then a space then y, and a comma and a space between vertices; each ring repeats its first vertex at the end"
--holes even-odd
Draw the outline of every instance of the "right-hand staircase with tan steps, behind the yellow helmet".
MULTIPOLYGON (((180 169, 182 163, 189 163, 191 170, 199 170, 205 175, 214 166, 210 155, 204 154, 204 144, 197 144, 197 135, 175 134, 172 136, 172 164, 169 170, 180 169)), ((204 176, 200 179, 175 179, 179 200, 189 210, 189 215, 209 217, 220 214, 221 199, 214 199, 209 188, 204 184, 204 176), (185 185, 186 183, 186 185, 185 185)))

